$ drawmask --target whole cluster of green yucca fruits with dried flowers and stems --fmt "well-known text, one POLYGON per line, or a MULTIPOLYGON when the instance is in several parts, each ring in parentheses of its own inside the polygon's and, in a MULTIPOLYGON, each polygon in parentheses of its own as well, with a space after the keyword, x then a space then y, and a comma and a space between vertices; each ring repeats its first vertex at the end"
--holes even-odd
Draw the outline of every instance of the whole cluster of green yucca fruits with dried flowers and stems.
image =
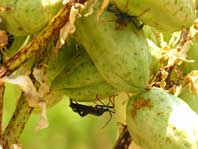
POLYGON ((196 1, 63 3, 61 26, 61 0, 0 2, 2 80, 48 107, 63 95, 95 102, 125 92, 127 128, 142 149, 198 149, 196 1), (24 87, 17 76, 27 70, 24 87))

